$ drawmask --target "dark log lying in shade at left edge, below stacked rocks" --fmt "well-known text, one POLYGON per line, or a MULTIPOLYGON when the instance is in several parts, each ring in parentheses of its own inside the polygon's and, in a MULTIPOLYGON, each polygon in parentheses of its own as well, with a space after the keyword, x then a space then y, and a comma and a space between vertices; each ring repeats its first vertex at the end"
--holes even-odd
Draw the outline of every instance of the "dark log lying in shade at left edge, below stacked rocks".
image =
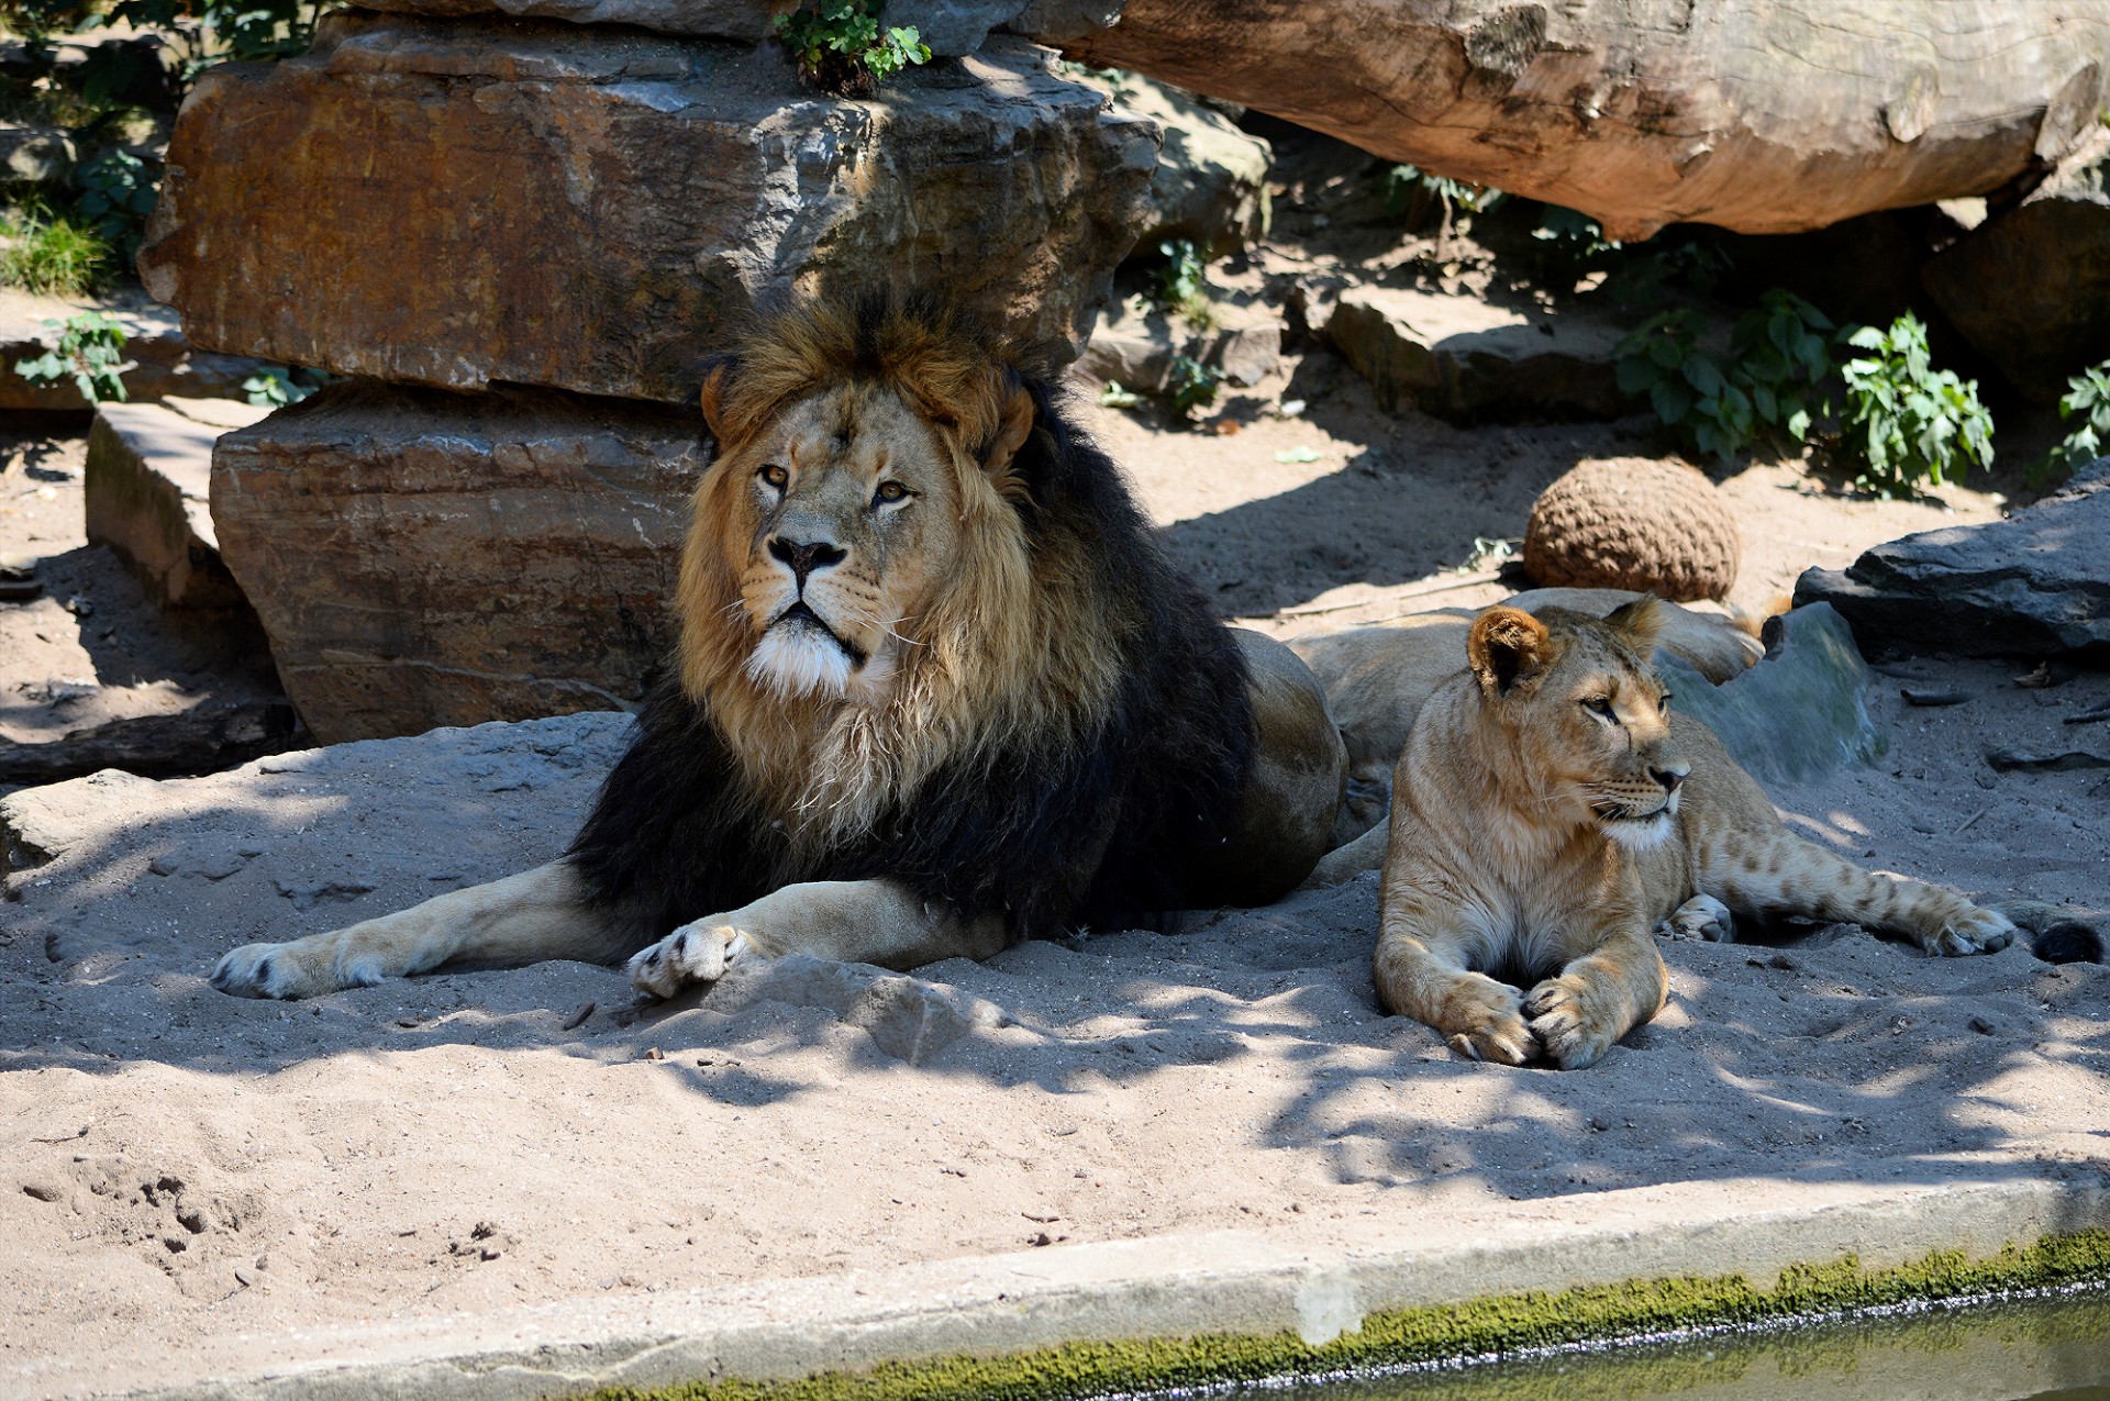
POLYGON ((0 783, 57 783, 106 768, 141 779, 205 774, 295 749, 306 741, 285 700, 200 705, 173 715, 112 719, 65 738, 0 743, 0 783))

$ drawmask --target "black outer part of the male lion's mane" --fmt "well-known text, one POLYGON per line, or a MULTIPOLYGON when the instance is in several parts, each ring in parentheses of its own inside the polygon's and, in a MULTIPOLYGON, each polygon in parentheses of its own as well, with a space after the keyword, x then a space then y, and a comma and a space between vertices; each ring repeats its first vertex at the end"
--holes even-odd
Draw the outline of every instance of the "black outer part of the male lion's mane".
POLYGON ((1112 705, 1066 732, 943 762, 869 831, 795 857, 743 789, 707 705, 663 682, 572 842, 589 903, 646 939, 798 880, 890 876, 968 916, 1002 911, 1023 939, 1201 899, 1192 874, 1253 764, 1245 663, 1112 460, 1044 380, 1019 382, 1034 430, 1011 464, 1023 485, 1013 508, 1036 576, 1082 565, 1099 580, 1104 644, 1120 663, 1112 705))

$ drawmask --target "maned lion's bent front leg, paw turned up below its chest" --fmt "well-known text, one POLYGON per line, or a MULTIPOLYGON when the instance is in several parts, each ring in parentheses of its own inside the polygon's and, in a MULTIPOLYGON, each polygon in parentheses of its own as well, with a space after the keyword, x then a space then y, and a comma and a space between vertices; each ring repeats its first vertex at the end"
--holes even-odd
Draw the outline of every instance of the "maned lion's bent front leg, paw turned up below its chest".
POLYGON ((812 954, 920 968, 941 958, 990 958, 1006 943, 996 911, 962 918, 897 880, 808 880, 690 920, 633 956, 627 973, 644 992, 671 998, 686 983, 715 983, 734 958, 812 954))

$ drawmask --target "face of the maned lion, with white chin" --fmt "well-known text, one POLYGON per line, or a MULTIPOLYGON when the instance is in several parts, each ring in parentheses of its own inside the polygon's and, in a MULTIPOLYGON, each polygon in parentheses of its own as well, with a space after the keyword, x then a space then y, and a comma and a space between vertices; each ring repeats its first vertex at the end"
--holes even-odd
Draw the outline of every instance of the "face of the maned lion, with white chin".
POLYGON ((787 696, 880 700, 943 587, 958 544, 958 479, 939 430, 893 390, 850 384, 791 405, 745 443, 728 527, 747 673, 787 696))

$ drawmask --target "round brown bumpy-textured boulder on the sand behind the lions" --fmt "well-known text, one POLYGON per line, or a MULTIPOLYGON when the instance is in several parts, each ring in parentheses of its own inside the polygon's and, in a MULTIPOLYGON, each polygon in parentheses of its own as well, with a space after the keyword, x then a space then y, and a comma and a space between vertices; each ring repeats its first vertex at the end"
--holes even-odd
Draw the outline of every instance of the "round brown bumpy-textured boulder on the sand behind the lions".
POLYGON ((1523 572, 1540 587, 1726 597, 1743 540, 1728 502, 1682 462, 1580 462, 1532 504, 1523 572))

